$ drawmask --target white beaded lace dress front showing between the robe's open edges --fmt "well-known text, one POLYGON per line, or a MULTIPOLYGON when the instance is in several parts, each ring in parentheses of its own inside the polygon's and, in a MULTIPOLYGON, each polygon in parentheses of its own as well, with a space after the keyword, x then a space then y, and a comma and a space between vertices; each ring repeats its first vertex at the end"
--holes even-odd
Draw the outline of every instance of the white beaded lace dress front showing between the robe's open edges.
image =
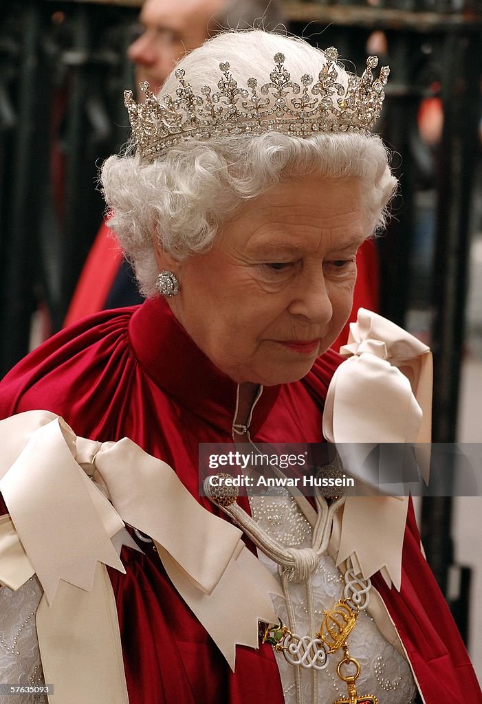
MULTIPOLYGON (((311 545, 312 529, 296 501, 284 489, 277 490, 277 496, 252 496, 250 508, 253 519, 269 536, 285 546, 307 548, 311 545)), ((258 550, 260 560, 277 579, 277 564, 258 550)), ((323 619, 323 610, 329 609, 338 599, 343 598, 343 577, 329 555, 319 560, 312 580, 315 596, 315 622, 323 619)), ((289 584, 292 603, 296 615, 296 633, 311 635, 308 622, 305 583, 289 584)), ((288 622, 286 603, 281 596, 273 598, 274 610, 282 622, 288 622)), ((357 625, 348 638, 350 656, 360 662, 361 674, 356 681, 358 696, 372 694, 379 704, 410 704, 417 688, 407 660, 398 653, 381 635, 372 617, 361 611, 357 625)), ((346 698, 346 685, 336 674, 336 665, 341 655, 329 658, 326 670, 317 674, 317 699, 319 704, 331 704, 338 698, 346 698)), ((286 704, 296 704, 296 684, 294 666, 276 653, 281 683, 286 704)), ((312 703, 311 671, 300 668, 303 689, 303 703, 312 703)))

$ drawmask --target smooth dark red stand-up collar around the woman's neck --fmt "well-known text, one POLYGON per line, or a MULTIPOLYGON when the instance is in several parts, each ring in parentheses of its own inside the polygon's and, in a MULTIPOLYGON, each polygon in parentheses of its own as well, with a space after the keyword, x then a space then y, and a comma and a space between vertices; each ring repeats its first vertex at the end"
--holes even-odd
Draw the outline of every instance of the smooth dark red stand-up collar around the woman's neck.
MULTIPOLYGON (((232 433, 238 384, 221 372, 196 345, 160 296, 148 298, 129 322, 129 339, 146 374, 173 401, 210 425, 232 433)), ((258 432, 281 386, 265 386, 250 423, 258 432)))

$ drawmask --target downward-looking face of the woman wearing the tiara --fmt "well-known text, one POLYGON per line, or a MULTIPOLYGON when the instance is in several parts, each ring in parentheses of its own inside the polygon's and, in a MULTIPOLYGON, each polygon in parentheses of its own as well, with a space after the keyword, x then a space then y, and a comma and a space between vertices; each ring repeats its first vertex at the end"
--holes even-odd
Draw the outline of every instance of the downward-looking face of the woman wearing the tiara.
POLYGON ((208 253, 180 263, 157 253, 179 277, 173 313, 235 382, 300 379, 350 314, 363 215, 357 180, 279 184, 222 224, 208 253))

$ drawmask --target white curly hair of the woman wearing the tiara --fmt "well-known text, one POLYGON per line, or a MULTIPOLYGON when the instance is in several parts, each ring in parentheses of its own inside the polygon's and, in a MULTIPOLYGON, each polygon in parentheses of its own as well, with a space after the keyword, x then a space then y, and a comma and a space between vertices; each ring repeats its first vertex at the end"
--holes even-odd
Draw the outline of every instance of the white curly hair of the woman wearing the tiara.
MULTIPOLYGON (((285 54, 286 68, 296 82, 305 73, 317 76, 326 63, 323 52, 302 39, 252 30, 218 34, 178 67, 184 68, 196 93, 205 84, 217 89, 221 61, 229 61, 239 84, 251 76, 263 84, 277 52, 285 54)), ((348 81, 339 65, 337 80, 348 81)), ((159 98, 175 94, 176 88, 172 73, 159 98)), ((206 251, 223 220, 232 218, 244 201, 281 181, 311 173, 331 180, 360 180, 367 234, 384 227, 397 181, 376 135, 227 135, 179 142, 152 163, 131 145, 123 155, 106 160, 101 184, 110 211, 108 225, 134 266, 141 292, 152 296, 158 275, 154 245, 179 260, 206 251)))

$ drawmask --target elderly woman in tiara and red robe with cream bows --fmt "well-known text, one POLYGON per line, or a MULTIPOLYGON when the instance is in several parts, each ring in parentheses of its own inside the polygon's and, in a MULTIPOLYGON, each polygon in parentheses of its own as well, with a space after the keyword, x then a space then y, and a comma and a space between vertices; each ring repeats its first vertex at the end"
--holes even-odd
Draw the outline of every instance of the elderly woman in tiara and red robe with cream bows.
MULTIPOLYGON (((127 94, 132 145, 101 178, 148 299, 58 334, 0 386, 2 417, 30 412, 0 424, 0 528, 23 566, 0 560, 18 588, 0 596, 4 614, 25 589, 42 597, 42 665, 61 704, 478 700, 407 502, 342 508, 317 495, 317 513, 287 491, 199 496, 200 443, 316 443, 323 423, 331 440, 400 439, 407 408, 417 422, 401 439, 417 439, 417 379, 376 354, 357 387, 366 408, 339 406, 346 379, 356 395, 351 365, 323 417, 350 362, 339 367, 330 346, 357 249, 395 189, 369 133, 388 70, 375 80, 369 59, 358 79, 336 59, 296 39, 224 34, 186 56, 158 99, 127 94)), ((388 348, 401 335, 406 353, 426 354, 364 316, 377 349, 386 332, 388 348)), ((22 603, 20 631, 34 632, 22 603)), ((20 631, 5 658, 25 655, 20 631)))

